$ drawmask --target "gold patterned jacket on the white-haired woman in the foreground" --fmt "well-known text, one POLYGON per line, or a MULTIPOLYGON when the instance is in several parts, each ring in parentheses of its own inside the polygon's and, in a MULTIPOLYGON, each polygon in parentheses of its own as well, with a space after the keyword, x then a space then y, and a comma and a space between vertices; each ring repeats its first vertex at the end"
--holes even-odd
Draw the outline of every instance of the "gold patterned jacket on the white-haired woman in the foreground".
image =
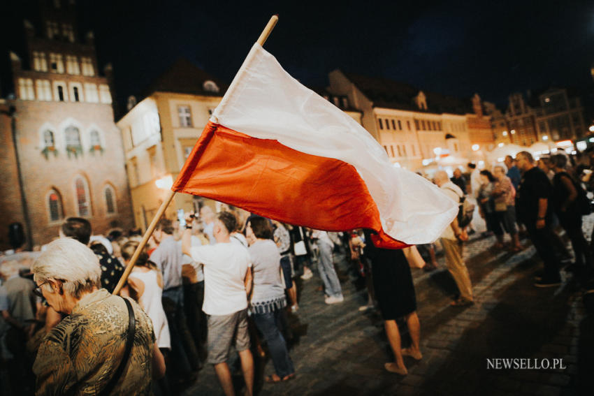
MULTIPOLYGON (((154 332, 132 303, 136 332, 130 359, 112 395, 150 395, 154 332)), ((99 395, 115 373, 126 345, 128 309, 106 289, 85 295, 39 348, 33 371, 36 395, 99 395)))

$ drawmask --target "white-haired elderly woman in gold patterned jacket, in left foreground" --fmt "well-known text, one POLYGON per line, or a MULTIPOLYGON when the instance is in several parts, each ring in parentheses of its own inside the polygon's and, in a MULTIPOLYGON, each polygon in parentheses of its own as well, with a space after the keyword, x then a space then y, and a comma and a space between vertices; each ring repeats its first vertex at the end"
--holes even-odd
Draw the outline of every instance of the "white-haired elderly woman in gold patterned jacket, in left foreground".
POLYGON ((149 395, 151 375, 165 371, 150 318, 136 302, 99 288, 101 267, 91 249, 55 240, 32 271, 36 293, 67 315, 39 348, 36 394, 149 395))

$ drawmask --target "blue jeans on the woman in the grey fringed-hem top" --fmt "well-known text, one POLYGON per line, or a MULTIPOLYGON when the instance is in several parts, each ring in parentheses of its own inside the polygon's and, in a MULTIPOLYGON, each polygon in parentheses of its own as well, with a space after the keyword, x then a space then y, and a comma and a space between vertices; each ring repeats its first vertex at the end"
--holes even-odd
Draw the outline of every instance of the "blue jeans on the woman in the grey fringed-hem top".
POLYGON ((275 372, 280 378, 284 378, 289 374, 295 372, 293 367, 293 361, 287 351, 287 343, 284 342, 284 337, 280 332, 280 321, 282 315, 282 309, 277 309, 267 314, 253 314, 254 323, 256 328, 260 330, 266 344, 268 344, 268 351, 270 351, 270 357, 273 359, 273 365, 275 366, 275 372))

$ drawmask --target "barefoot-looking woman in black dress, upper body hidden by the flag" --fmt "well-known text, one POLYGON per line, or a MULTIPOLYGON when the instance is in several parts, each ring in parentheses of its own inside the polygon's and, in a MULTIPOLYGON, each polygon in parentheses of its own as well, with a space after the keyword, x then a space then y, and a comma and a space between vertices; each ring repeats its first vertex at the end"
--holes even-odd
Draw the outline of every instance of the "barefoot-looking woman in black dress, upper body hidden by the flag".
POLYGON ((416 316, 416 297, 410 267, 402 249, 375 247, 367 230, 365 255, 371 260, 375 298, 396 358, 396 362, 388 362, 384 367, 389 372, 406 375, 403 356, 412 356, 415 360, 423 358, 419 349, 421 326, 419 317, 416 316), (396 324, 396 319, 401 317, 406 320, 411 339, 411 346, 406 349, 402 349, 400 345, 400 332, 396 324))

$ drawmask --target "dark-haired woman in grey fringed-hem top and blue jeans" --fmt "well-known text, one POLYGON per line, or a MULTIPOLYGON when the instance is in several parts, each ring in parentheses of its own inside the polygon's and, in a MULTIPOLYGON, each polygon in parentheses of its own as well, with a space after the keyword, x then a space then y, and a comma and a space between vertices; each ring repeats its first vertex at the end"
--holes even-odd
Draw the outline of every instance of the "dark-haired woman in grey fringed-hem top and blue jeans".
POLYGON ((245 235, 254 274, 252 318, 266 339, 276 372, 267 376, 265 381, 288 381, 295 377, 295 368, 280 332, 282 309, 287 306, 287 300, 280 277, 280 254, 272 240, 273 229, 268 219, 253 217, 247 222, 245 235))

